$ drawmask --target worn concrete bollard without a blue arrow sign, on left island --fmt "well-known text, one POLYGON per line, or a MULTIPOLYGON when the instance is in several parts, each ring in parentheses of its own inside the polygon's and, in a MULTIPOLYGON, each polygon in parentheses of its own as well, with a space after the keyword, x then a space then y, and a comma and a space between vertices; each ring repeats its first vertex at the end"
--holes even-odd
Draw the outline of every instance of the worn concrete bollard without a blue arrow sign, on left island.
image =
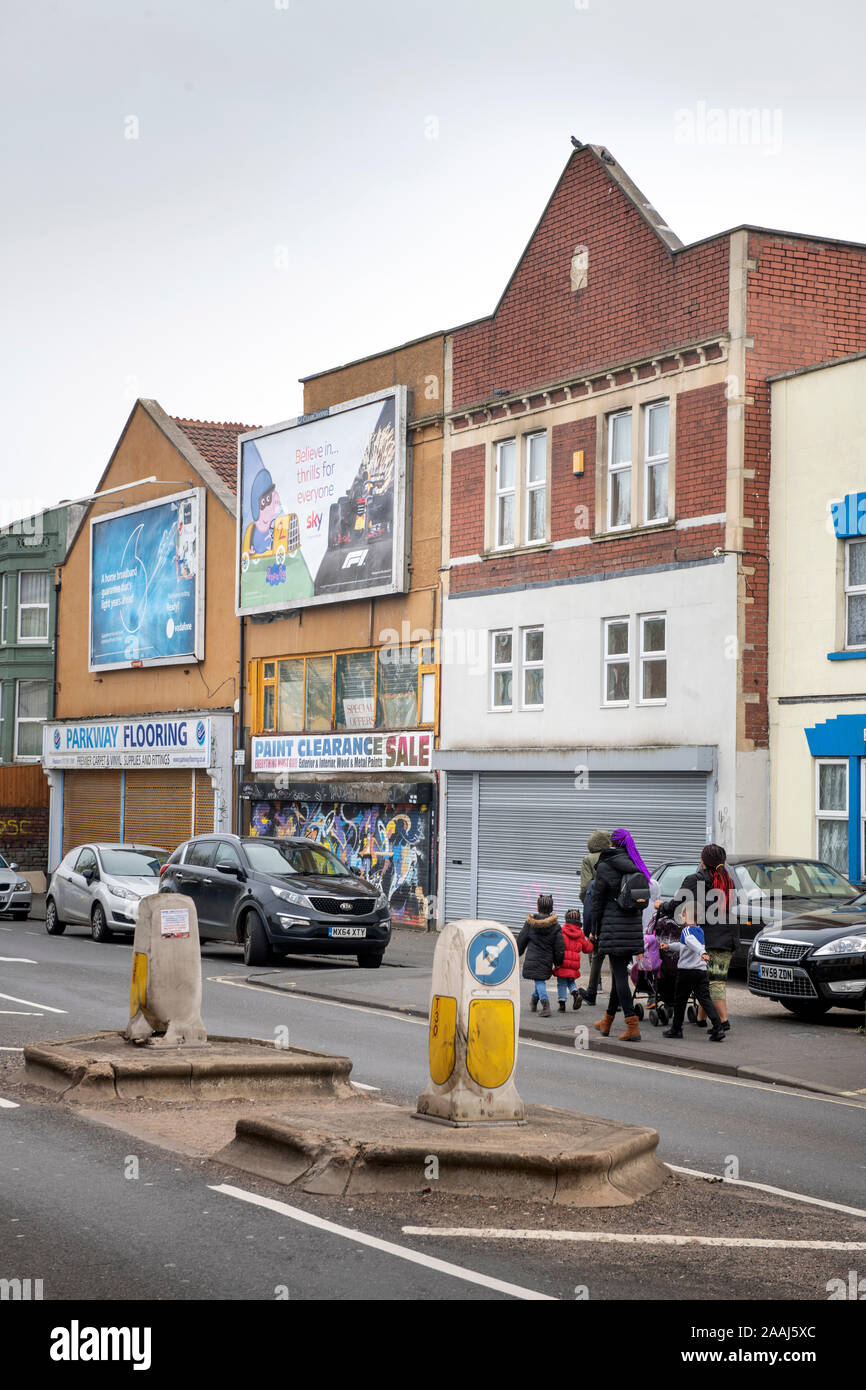
POLYGON ((204 1047, 202 952, 192 898, 154 892, 142 898, 129 986, 129 1042, 204 1047))

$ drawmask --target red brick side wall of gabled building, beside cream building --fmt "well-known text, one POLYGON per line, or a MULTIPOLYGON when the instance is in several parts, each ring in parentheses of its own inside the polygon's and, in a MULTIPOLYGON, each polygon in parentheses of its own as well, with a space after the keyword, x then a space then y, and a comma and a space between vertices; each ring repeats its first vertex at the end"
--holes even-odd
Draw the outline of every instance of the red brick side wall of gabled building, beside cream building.
MULTIPOLYGON (((753 349, 746 353, 745 467, 755 471, 744 484, 744 514, 753 527, 744 531, 744 563, 748 595, 745 692, 760 695, 745 709, 745 733, 759 748, 767 746, 767 580, 770 485, 770 388, 767 377, 812 363, 844 357, 866 349, 866 247, 778 236, 749 235, 746 332, 753 349)), ((822 460, 816 460, 820 466, 822 460)), ((833 480, 827 480, 828 495, 833 480)), ((824 518, 816 517, 815 525, 824 518)))

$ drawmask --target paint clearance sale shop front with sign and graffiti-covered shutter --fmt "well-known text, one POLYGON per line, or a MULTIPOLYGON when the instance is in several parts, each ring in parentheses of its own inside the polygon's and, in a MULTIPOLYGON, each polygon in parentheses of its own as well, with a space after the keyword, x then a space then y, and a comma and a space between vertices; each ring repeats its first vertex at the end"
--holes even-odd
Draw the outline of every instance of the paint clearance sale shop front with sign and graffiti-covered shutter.
POLYGON ((395 924, 427 927, 436 781, 428 730, 265 734, 243 785, 249 834, 302 835, 386 895, 395 924))

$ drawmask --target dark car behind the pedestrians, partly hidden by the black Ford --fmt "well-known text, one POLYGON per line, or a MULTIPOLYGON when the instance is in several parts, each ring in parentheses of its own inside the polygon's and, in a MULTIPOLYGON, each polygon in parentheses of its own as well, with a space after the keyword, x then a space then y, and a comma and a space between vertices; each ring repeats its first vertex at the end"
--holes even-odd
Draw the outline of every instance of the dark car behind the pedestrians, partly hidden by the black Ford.
MULTIPOLYGON (((853 902, 860 892, 831 865, 820 859, 794 859, 787 855, 730 855, 727 867, 737 888, 741 948, 734 963, 746 958, 749 944, 762 930, 788 917, 820 908, 853 902)), ((673 898, 696 863, 663 863, 653 870, 663 898, 673 898)))

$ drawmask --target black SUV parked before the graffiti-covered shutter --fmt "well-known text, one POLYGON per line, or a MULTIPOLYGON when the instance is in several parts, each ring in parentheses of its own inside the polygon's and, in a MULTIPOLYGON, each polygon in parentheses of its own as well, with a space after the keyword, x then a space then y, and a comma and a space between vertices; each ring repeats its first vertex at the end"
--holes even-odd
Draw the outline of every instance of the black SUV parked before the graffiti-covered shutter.
POLYGON ((310 840, 197 835, 161 869, 160 892, 196 905, 203 941, 243 945, 246 965, 288 954, 356 955, 375 970, 391 940, 384 894, 310 840))

